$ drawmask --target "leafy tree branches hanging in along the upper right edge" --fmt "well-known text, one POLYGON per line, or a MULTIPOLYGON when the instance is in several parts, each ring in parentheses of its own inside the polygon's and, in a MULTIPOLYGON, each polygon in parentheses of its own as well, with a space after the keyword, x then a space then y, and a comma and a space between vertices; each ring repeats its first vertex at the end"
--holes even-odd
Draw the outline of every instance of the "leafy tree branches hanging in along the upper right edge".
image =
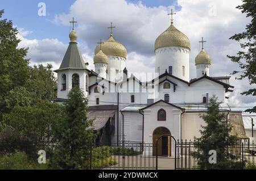
MULTIPOLYGON (((228 56, 231 61, 237 62, 242 71, 233 71, 232 74, 240 73, 238 79, 248 78, 250 85, 256 83, 256 1, 242 0, 243 4, 237 6, 246 17, 251 18, 251 23, 246 25, 245 31, 238 33, 230 39, 240 42, 240 50, 237 56, 228 56)), ((249 89, 242 95, 256 96, 256 89, 249 89)), ((256 112, 256 106, 247 112, 256 112)))

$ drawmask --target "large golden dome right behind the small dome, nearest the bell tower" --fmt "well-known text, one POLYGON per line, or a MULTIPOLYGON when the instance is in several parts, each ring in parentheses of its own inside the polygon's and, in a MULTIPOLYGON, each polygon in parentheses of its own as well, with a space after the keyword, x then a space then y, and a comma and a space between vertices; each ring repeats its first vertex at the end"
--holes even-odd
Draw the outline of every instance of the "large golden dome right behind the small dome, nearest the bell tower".
MULTIPOLYGON (((125 46, 121 43, 118 43, 114 40, 113 36, 111 35, 108 40, 101 45, 102 52, 104 52, 107 56, 120 56, 123 58, 127 57, 127 50, 125 46)), ((95 50, 94 54, 97 54, 100 51, 100 45, 98 45, 95 50)))

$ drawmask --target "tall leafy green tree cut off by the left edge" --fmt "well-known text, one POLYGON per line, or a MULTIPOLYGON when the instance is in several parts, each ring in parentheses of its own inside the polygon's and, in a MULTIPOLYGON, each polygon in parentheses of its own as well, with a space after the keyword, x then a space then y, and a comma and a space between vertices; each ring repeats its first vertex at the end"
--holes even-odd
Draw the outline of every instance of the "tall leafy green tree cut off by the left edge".
POLYGON ((1 19, 3 12, 0 11, 0 120, 6 112, 4 98, 7 92, 23 86, 29 77, 27 49, 18 48, 18 30, 11 21, 1 19))

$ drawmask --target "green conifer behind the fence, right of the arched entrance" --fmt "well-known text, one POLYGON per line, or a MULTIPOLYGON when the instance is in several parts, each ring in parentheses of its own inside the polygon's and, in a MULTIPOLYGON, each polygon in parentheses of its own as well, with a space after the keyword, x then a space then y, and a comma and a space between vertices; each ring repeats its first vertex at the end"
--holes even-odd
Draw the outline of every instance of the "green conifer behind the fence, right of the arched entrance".
POLYGON ((238 169, 241 166, 237 163, 236 167, 236 163, 230 159, 228 146, 235 144, 236 137, 230 136, 231 125, 226 122, 226 113, 219 111, 219 106, 216 96, 213 96, 209 100, 207 113, 200 116, 206 126, 202 126, 201 137, 195 140, 197 151, 192 152, 200 169, 238 169), (208 161, 210 150, 216 151, 216 164, 210 164, 208 161))

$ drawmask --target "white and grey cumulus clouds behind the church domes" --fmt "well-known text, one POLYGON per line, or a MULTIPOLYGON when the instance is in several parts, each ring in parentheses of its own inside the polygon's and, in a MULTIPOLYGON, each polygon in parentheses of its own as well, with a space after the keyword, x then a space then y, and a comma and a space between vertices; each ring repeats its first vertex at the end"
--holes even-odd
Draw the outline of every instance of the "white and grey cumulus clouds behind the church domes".
MULTIPOLYGON (((246 18, 240 10, 236 9, 240 0, 177 0, 174 24, 176 28, 185 33, 191 40, 190 72, 191 78, 196 76, 195 57, 201 50, 199 40, 203 36, 207 43, 205 50, 212 57, 210 74, 212 76, 225 76, 238 69, 238 65, 231 62, 226 55, 234 55, 240 50, 236 41, 229 40, 234 33, 242 32, 250 19, 246 18)), ((102 38, 108 39, 110 22, 114 29, 114 38, 126 46, 128 57, 126 66, 130 72, 154 71, 154 42, 168 26, 170 17, 167 13, 174 6, 147 7, 142 3, 127 3, 125 0, 77 0, 70 7, 68 14, 59 14, 52 20, 53 23, 69 25, 72 17, 79 22, 77 32, 84 60, 89 62, 93 69, 93 54, 97 42, 102 38), (136 66, 134 66, 136 65, 136 66)), ((26 36, 24 32, 23 36, 26 36)), ((52 61, 60 64, 67 45, 55 39, 27 40, 23 45, 30 47, 28 57, 36 62, 52 61)), ((255 102, 249 96, 241 96, 245 87, 250 87, 246 80, 230 79, 236 86, 230 93, 229 103, 247 104, 255 102)))

